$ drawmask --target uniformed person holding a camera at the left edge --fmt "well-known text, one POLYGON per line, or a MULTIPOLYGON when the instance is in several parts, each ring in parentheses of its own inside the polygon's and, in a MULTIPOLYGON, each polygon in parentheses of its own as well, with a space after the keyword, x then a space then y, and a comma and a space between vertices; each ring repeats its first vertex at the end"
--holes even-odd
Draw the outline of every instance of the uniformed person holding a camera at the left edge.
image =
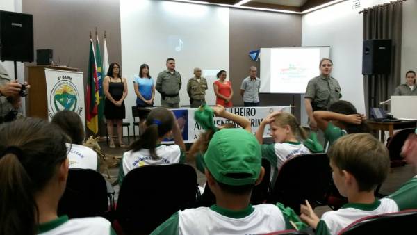
POLYGON ((0 64, 0 124, 16 119, 21 106, 21 97, 26 96, 26 84, 10 79, 6 69, 0 64))

